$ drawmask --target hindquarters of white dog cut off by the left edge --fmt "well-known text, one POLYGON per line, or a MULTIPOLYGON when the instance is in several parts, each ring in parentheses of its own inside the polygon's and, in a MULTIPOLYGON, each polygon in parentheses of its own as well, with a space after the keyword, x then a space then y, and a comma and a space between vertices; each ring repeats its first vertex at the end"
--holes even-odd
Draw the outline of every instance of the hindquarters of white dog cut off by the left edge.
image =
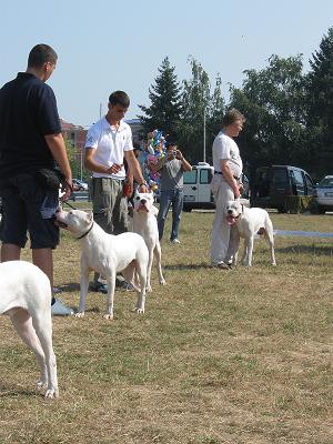
POLYGON ((0 264, 0 313, 8 314, 40 367, 37 389, 46 397, 59 396, 57 363, 52 346, 51 286, 47 275, 24 261, 0 264))

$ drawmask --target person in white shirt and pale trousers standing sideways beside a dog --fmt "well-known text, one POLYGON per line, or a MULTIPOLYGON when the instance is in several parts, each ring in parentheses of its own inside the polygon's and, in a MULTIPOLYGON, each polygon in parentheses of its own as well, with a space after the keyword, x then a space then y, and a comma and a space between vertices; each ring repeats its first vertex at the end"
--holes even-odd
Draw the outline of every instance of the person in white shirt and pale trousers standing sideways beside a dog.
POLYGON ((211 243, 211 266, 228 269, 234 253, 235 226, 230 228, 225 221, 225 206, 231 200, 240 198, 243 162, 240 150, 233 138, 243 129, 244 115, 231 109, 222 121, 222 130, 213 142, 214 176, 211 189, 215 200, 215 218, 211 243))

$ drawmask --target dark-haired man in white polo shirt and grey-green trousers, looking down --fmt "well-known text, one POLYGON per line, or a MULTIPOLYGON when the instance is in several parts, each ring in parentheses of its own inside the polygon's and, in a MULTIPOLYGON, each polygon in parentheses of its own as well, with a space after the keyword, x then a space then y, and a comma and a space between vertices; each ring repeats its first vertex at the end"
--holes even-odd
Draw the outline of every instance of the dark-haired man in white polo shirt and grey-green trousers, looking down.
MULTIPOLYGON (((84 167, 92 171, 91 198, 94 221, 109 234, 128 231, 128 203, 123 194, 125 158, 131 173, 147 192, 140 164, 133 153, 132 131, 123 122, 130 98, 123 91, 114 91, 109 98, 108 113, 87 134, 84 167)), ((105 293, 107 285, 94 274, 92 290, 105 293)))

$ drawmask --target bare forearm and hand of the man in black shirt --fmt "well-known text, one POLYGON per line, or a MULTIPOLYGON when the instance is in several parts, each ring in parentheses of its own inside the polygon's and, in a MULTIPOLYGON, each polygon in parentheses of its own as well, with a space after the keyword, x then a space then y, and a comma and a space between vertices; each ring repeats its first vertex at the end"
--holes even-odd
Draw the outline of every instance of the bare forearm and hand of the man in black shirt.
POLYGON ((53 159, 58 163, 62 174, 64 175, 64 194, 63 200, 67 200, 72 192, 72 171, 67 157, 65 145, 62 134, 48 134, 44 135, 46 142, 52 153, 53 159))

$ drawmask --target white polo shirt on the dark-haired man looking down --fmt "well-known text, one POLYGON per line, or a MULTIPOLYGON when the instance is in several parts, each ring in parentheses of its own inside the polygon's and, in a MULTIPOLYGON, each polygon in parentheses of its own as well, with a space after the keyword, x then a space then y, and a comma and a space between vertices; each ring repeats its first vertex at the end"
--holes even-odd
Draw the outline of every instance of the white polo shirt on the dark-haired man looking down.
MULTIPOLYGON (((132 130, 122 120, 118 130, 103 117, 94 123, 87 134, 85 148, 94 149, 93 160, 110 168, 113 163, 123 164, 124 151, 133 150, 132 130)), ((124 167, 117 174, 93 172, 93 178, 125 179, 124 167)))

